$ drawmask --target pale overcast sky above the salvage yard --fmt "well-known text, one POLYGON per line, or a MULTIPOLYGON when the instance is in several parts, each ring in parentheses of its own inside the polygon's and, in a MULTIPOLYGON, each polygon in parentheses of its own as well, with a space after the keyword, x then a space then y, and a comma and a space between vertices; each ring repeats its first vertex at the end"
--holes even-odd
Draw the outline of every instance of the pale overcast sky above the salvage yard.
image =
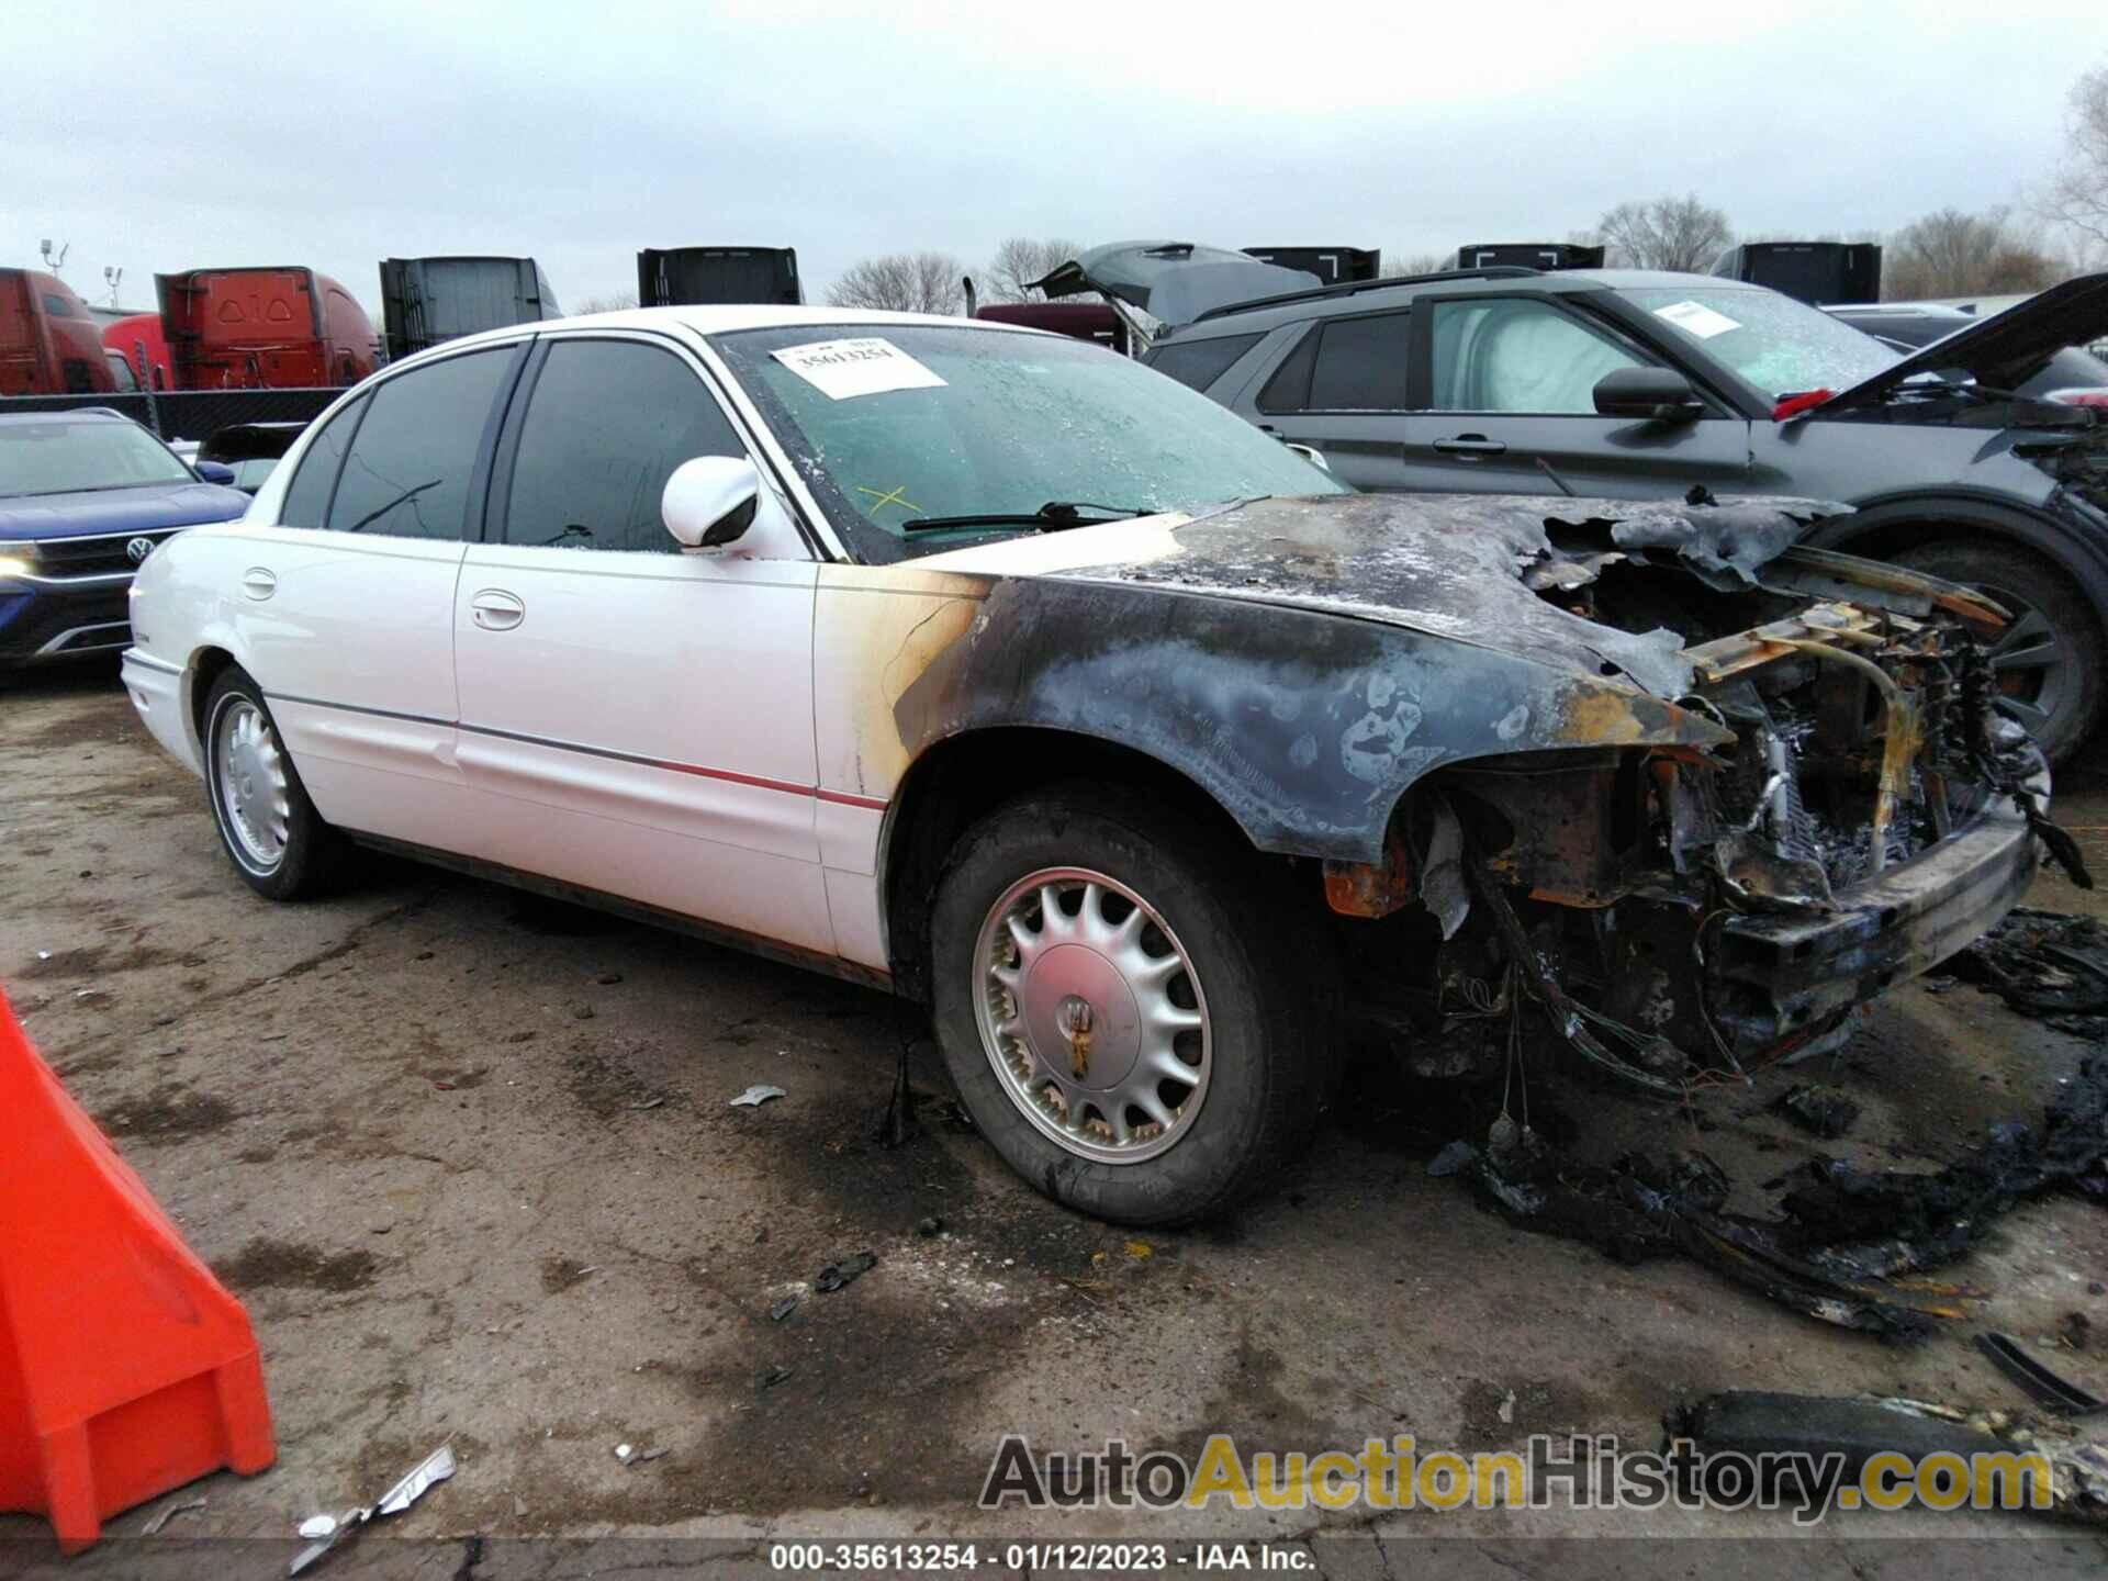
POLYGON ((377 318, 390 255, 533 255, 573 304, 700 242, 797 247, 820 299, 1012 234, 1448 253, 1686 190, 1893 230, 2024 200, 2108 4, 61 0, 6 34, 0 264, 65 240, 126 306, 310 264, 377 318))

